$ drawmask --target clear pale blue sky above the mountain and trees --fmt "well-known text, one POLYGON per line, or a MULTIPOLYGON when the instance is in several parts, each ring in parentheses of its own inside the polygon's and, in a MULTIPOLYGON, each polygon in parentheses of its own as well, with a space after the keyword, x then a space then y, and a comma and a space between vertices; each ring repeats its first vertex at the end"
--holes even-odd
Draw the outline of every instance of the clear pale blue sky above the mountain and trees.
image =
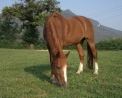
MULTIPOLYGON (((1 0, 0 13, 5 6, 11 6, 17 0, 1 0)), ((69 9, 76 15, 82 15, 98 21, 101 25, 122 31, 122 0, 58 0, 62 10, 69 9)))

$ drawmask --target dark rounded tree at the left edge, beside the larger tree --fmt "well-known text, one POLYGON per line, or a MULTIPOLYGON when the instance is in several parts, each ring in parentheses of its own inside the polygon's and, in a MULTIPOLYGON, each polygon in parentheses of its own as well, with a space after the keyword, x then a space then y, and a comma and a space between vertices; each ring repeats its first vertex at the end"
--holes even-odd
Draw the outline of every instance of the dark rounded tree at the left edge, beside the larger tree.
POLYGON ((18 28, 18 24, 7 19, 0 19, 0 39, 15 41, 18 38, 18 34, 20 33, 20 29, 18 28))

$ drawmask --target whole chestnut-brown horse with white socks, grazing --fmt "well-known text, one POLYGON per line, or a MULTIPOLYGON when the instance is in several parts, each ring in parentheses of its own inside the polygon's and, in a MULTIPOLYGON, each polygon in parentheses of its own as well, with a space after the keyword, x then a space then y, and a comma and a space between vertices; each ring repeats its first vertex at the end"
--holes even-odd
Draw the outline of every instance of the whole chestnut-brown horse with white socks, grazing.
POLYGON ((46 41, 50 54, 51 79, 53 83, 61 86, 67 86, 67 61, 69 55, 62 51, 63 46, 76 44, 80 57, 80 65, 76 73, 83 71, 84 52, 82 48, 83 41, 87 41, 88 50, 88 68, 93 69, 93 57, 95 61, 94 74, 98 74, 97 52, 94 45, 94 29, 91 21, 83 16, 74 16, 64 18, 59 13, 54 12, 47 19, 43 37, 46 41))

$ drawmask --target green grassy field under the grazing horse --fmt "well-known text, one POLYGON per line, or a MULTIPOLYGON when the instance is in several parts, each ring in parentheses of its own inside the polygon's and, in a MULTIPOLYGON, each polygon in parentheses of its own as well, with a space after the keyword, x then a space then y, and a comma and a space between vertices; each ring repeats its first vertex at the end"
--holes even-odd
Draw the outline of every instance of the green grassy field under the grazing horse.
POLYGON ((98 51, 98 58, 98 75, 86 66, 77 75, 79 58, 72 50, 64 88, 50 84, 47 51, 0 49, 0 98, 122 98, 122 51, 98 51))

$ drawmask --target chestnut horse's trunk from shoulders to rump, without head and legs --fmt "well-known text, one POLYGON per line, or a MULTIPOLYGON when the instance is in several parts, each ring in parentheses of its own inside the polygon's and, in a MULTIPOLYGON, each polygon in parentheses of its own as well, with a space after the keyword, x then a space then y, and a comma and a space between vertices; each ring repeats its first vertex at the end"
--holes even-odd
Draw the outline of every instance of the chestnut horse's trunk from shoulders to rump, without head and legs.
POLYGON ((88 39, 92 37, 93 39, 94 29, 91 21, 84 16, 64 18, 58 13, 53 13, 47 19, 43 36, 47 40, 50 40, 51 36, 55 36, 63 46, 67 46, 76 44, 83 38, 88 39))

